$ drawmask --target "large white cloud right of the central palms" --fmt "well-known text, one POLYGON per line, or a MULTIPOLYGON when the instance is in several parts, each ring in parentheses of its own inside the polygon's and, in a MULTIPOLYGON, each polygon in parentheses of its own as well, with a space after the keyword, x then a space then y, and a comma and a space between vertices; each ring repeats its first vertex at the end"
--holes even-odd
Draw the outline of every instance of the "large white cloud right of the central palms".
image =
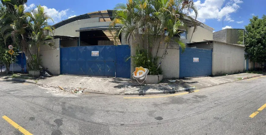
POLYGON ((206 19, 222 20, 225 17, 226 21, 231 21, 230 14, 237 12, 243 3, 241 0, 230 0, 224 4, 225 0, 205 0, 203 3, 198 0, 195 5, 198 8, 198 20, 205 22, 206 19))

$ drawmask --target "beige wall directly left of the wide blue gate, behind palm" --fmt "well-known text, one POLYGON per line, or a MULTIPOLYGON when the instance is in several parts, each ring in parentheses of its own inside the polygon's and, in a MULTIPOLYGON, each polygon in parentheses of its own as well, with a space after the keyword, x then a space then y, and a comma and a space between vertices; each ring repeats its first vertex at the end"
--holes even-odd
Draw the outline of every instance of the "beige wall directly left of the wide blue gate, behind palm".
MULTIPOLYGON (((47 40, 49 41, 49 40, 47 40)), ((60 39, 54 39, 54 48, 49 46, 40 46, 40 58, 41 66, 48 70, 53 75, 60 75, 60 48, 59 48, 60 39)), ((31 54, 35 54, 35 47, 31 48, 31 54)))

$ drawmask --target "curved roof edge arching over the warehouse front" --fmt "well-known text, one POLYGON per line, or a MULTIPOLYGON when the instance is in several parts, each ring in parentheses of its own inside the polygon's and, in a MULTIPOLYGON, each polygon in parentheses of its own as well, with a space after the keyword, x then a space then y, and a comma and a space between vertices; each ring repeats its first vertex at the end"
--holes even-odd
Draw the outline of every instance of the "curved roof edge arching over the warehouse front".
POLYGON ((74 22, 77 20, 96 18, 96 17, 103 18, 103 20, 105 20, 104 18, 112 18, 113 17, 113 10, 101 10, 101 11, 99 10, 99 11, 75 16, 75 17, 63 20, 57 24, 54 24, 53 27, 58 28, 58 27, 61 27, 65 24, 68 24, 68 23, 71 23, 71 22, 74 22))

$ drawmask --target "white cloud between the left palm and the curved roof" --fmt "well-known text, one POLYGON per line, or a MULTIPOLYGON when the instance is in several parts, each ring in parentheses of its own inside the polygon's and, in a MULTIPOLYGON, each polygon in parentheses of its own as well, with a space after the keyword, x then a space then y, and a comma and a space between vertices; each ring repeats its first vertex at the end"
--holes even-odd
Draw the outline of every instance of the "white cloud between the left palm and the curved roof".
MULTIPOLYGON (((69 9, 65 9, 65 10, 59 11, 59 10, 56 10, 54 8, 50 9, 45 5, 42 7, 44 8, 44 12, 46 12, 49 16, 51 16, 53 18, 54 23, 57 23, 57 22, 63 20, 63 17, 67 16, 66 14, 67 14, 67 11, 69 10, 69 9)), ((52 20, 48 20, 48 22, 53 23, 52 20)))

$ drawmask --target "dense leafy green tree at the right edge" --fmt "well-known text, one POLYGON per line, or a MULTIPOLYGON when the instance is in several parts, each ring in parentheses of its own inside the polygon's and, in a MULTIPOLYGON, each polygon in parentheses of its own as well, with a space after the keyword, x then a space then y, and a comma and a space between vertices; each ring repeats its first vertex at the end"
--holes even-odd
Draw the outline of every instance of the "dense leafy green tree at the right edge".
POLYGON ((253 16, 249 22, 245 26, 245 57, 254 63, 266 63, 266 16, 253 16))

